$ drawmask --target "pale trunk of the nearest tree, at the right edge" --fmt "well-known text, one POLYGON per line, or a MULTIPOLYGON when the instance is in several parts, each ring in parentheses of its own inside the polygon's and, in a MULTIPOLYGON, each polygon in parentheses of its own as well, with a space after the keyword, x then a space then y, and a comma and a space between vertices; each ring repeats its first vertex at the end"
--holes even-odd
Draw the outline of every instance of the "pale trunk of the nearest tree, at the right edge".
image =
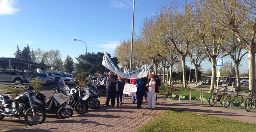
POLYGON ((251 49, 248 54, 248 70, 249 70, 249 90, 255 89, 255 49, 251 49))

